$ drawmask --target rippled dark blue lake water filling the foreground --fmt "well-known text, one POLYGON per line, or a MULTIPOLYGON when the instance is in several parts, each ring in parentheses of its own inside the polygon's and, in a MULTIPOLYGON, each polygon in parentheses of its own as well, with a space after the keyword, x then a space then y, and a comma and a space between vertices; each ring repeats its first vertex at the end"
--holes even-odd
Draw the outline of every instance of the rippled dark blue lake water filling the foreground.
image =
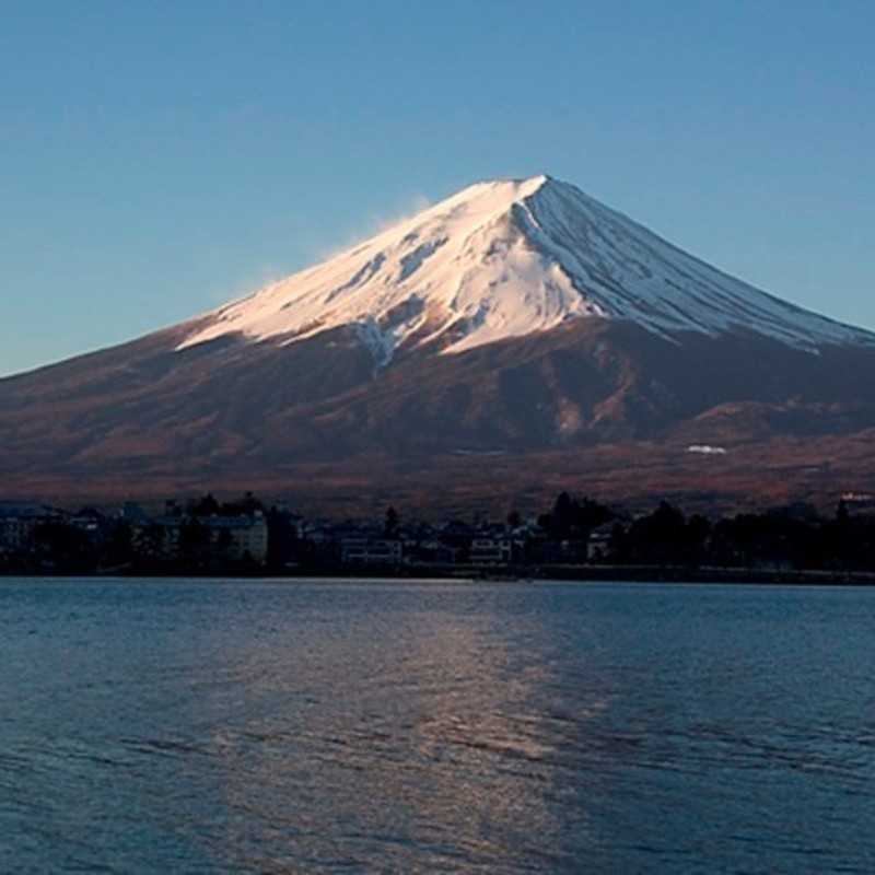
POLYGON ((0 872, 875 872, 875 591, 0 582, 0 872))

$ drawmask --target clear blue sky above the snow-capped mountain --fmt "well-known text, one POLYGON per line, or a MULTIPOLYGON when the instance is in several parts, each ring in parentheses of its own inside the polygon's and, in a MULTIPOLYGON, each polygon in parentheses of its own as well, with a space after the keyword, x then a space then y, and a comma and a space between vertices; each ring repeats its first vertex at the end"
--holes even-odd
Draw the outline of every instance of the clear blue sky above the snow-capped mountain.
POLYGON ((875 328, 875 4, 4 2, 0 374, 546 172, 875 328))

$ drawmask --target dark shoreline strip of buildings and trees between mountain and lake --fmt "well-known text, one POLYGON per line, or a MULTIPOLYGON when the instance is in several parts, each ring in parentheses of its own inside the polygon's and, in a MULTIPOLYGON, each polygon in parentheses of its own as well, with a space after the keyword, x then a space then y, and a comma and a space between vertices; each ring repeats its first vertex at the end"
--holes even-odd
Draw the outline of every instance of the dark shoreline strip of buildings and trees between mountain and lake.
POLYGON ((376 520, 306 518, 252 493, 159 508, 0 502, 4 574, 689 579, 691 570, 703 580, 865 582, 875 574, 875 498, 848 493, 831 515, 795 504, 711 520, 665 501, 633 514, 563 492, 533 516, 436 522, 394 508, 376 520))

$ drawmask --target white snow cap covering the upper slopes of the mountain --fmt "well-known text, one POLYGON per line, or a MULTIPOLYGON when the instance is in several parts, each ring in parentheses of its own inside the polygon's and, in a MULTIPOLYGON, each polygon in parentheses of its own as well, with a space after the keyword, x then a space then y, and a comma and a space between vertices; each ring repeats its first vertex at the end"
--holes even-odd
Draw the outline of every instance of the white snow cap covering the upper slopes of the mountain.
POLYGON ((632 319, 662 337, 737 329, 817 351, 875 335, 796 307, 708 266, 548 176, 472 185, 320 265, 198 322, 179 349, 224 335, 294 342, 352 326, 387 364, 568 319, 632 319))

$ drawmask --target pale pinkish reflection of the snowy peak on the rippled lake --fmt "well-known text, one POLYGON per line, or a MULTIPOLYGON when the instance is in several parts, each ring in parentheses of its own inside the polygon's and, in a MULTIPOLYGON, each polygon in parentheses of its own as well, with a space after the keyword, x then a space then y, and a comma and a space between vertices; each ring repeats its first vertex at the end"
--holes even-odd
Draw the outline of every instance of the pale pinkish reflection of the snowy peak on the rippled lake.
MULTIPOLYGON (((387 615, 361 621, 371 591, 332 595, 353 619, 330 633, 305 627, 225 653, 248 680, 238 719, 211 735, 228 808, 213 852, 243 866, 257 849, 271 871, 289 860, 364 866, 376 845, 398 871, 416 871, 423 849, 431 871, 542 855, 562 816, 553 774, 606 699, 573 716, 545 712, 561 663, 514 649, 494 615, 394 587, 387 615)), ((522 616, 511 637, 539 634, 522 616)))

